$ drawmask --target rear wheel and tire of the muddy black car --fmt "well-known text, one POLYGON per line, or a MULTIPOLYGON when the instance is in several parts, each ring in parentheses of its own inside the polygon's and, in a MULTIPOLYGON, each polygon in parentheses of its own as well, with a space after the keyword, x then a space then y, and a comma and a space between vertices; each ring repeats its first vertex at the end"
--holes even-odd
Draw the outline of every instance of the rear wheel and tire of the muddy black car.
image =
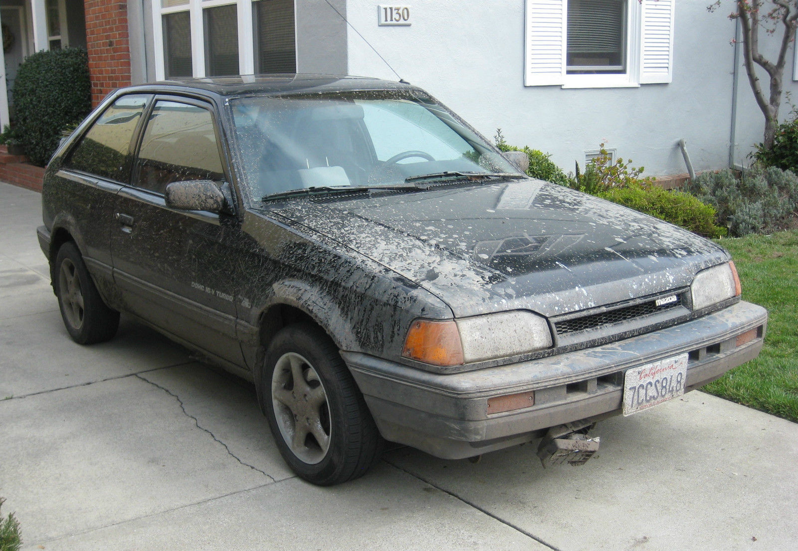
POLYGON ((111 339, 119 328, 119 313, 105 305, 73 242, 65 242, 58 249, 53 274, 61 318, 69 337, 78 344, 111 339))

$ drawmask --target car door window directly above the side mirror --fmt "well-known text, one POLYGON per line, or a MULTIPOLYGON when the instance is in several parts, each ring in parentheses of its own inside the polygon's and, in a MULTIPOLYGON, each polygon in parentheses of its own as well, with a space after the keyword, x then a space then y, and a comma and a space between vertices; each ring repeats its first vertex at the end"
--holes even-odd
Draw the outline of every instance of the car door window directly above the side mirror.
POLYGON ((211 112, 176 101, 158 101, 144 130, 137 185, 163 193, 172 182, 223 178, 211 112))

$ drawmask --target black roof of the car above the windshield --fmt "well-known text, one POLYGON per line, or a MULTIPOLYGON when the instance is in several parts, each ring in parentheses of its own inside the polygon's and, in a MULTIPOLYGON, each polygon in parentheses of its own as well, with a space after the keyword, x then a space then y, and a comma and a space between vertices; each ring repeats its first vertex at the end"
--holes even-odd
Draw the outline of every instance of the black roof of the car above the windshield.
POLYGON ((132 86, 124 92, 203 91, 218 96, 281 95, 298 93, 344 92, 350 90, 415 89, 407 82, 378 78, 323 74, 237 75, 233 77, 176 78, 132 86))

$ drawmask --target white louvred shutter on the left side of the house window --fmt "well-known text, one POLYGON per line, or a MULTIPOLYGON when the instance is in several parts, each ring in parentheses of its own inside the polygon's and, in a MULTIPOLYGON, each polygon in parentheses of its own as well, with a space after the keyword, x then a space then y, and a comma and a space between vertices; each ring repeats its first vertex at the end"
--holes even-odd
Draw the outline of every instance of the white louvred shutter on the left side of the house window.
POLYGON ((566 0, 527 0, 524 85, 562 85, 566 0))

